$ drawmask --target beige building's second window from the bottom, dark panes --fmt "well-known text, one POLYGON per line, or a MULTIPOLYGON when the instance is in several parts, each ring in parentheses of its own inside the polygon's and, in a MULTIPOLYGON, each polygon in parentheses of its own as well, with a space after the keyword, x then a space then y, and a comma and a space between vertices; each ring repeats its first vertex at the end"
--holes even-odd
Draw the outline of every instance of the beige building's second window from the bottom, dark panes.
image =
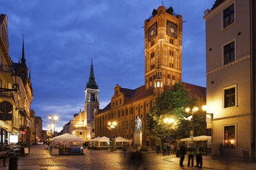
POLYGON ((224 89, 224 108, 235 106, 235 86, 224 89))

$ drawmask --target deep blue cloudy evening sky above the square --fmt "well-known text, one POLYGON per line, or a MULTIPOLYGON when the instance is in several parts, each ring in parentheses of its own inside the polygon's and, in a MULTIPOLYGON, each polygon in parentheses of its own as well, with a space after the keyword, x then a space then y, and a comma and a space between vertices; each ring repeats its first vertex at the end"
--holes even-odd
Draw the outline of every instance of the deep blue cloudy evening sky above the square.
MULTIPOLYGON (((183 20, 182 82, 206 86, 204 10, 215 0, 169 0, 183 20)), ((100 89, 100 108, 114 94, 114 86, 138 88, 144 84, 145 19, 160 0, 23 0, 1 1, 8 15, 10 56, 25 59, 31 68, 32 109, 43 119, 57 114, 60 131, 73 114, 83 110, 90 60, 100 89)))

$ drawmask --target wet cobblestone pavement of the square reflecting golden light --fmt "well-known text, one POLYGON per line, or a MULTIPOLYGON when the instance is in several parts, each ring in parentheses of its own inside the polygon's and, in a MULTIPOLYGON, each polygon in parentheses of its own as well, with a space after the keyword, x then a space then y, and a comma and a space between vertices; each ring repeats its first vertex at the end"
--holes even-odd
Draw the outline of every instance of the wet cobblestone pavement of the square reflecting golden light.
MULTIPOLYGON (((195 167, 179 167, 179 158, 174 155, 162 156, 157 154, 142 154, 144 164, 136 167, 134 160, 131 164, 131 154, 124 156, 121 152, 108 152, 89 150, 87 155, 72 156, 51 156, 42 146, 31 148, 30 156, 19 158, 19 169, 39 169, 39 170, 78 170, 78 169, 198 169, 195 167)), ((184 160, 186 165, 187 159, 184 160)), ((202 169, 256 169, 255 164, 244 164, 242 162, 229 162, 222 164, 217 160, 212 160, 210 156, 203 156, 202 169)), ((6 160, 8 165, 8 160, 6 160)), ((3 167, 3 161, 0 160, 0 170, 8 169, 3 167)))

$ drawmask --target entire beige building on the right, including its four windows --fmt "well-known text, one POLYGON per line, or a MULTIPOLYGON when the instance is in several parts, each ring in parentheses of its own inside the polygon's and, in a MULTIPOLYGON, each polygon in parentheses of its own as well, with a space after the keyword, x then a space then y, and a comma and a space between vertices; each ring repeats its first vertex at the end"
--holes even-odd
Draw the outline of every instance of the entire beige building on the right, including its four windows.
POLYGON ((212 154, 217 154, 220 144, 237 155, 242 155, 244 148, 255 148, 255 64, 251 52, 254 9, 250 0, 217 0, 211 10, 204 11, 206 103, 207 112, 213 114, 208 124, 213 132, 212 154))

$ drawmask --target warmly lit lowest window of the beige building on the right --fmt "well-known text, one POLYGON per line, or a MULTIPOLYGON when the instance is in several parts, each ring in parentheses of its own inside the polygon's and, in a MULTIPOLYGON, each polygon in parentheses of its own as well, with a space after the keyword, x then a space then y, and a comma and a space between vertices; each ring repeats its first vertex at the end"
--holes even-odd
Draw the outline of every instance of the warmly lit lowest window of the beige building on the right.
POLYGON ((224 126, 224 148, 235 149, 235 125, 224 126))

